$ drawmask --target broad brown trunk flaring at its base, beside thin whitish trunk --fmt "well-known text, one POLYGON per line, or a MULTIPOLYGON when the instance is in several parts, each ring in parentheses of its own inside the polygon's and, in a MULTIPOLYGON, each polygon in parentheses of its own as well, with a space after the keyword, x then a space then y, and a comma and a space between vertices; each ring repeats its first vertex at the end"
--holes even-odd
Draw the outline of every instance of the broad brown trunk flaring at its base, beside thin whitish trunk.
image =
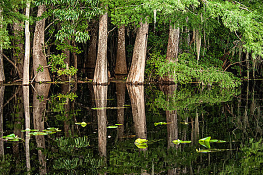
MULTIPOLYGON (((39 5, 37 10, 37 17, 40 17, 45 11, 45 5, 39 5)), ((45 18, 36 21, 35 30, 34 30, 34 38, 33 38, 33 70, 35 75, 35 81, 43 82, 43 81, 51 81, 49 72, 46 66, 46 58, 44 54, 44 24, 45 18), (43 71, 38 71, 37 67, 39 64, 45 68, 43 71)))

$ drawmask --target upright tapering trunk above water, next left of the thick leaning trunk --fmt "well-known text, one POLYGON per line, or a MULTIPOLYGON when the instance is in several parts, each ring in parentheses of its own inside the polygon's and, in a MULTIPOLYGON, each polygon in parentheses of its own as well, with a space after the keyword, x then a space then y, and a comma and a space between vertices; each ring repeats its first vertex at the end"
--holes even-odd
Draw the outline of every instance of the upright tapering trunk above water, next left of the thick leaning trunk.
POLYGON ((97 60, 93 83, 107 84, 107 13, 99 17, 97 60))

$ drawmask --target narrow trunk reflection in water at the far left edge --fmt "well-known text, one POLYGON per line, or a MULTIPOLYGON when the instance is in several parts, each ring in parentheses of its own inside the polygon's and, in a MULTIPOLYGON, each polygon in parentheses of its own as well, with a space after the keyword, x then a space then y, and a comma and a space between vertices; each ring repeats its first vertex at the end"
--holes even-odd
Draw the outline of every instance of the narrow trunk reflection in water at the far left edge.
MULTIPOLYGON (((4 86, 0 86, 0 138, 3 136, 3 94, 4 86)), ((4 155, 3 140, 0 139, 0 157, 4 155)))

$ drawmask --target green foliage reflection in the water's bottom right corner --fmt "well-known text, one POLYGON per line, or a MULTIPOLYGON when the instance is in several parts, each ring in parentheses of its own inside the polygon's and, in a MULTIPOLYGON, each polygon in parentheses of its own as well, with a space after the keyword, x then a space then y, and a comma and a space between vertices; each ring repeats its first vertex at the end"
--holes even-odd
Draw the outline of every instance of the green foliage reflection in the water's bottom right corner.
POLYGON ((262 174, 263 173, 263 152, 262 140, 249 140, 247 143, 241 145, 241 152, 237 156, 239 161, 233 161, 224 168, 222 174, 262 174))

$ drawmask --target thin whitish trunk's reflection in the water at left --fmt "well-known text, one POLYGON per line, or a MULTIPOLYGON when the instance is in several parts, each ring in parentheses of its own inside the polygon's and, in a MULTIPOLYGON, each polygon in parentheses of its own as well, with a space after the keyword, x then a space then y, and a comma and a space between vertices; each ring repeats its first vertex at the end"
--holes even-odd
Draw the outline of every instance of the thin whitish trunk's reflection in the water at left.
MULTIPOLYGON (((23 105, 24 105, 24 117, 25 117, 25 128, 30 128, 30 114, 29 114, 29 86, 23 85, 23 105)), ((25 160, 26 169, 30 169, 30 153, 29 153, 29 131, 25 132, 25 160)))

